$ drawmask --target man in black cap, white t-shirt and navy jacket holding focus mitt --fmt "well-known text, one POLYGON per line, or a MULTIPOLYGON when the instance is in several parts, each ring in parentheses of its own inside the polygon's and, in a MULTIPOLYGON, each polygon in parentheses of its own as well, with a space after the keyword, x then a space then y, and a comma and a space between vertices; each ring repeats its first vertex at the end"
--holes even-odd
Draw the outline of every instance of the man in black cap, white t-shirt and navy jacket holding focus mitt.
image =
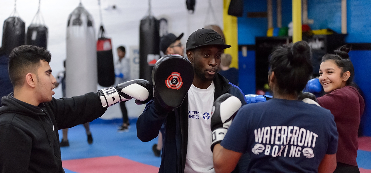
MULTIPOLYGON (((158 95, 161 94, 156 92, 163 91, 154 88, 157 97, 147 104, 139 116, 137 136, 143 142, 148 142, 157 137, 158 130, 165 123, 160 173, 215 172, 213 153, 210 150, 210 115, 213 103, 222 94, 229 93, 239 98, 242 105, 246 104, 242 91, 217 73, 220 55, 229 47, 231 46, 224 43, 220 34, 212 29, 195 31, 188 37, 186 44, 186 55, 194 74, 187 95, 179 93, 159 98, 158 95), (182 95, 185 97, 180 106, 172 108, 164 104, 167 99, 182 95)), ((165 51, 168 53, 168 50, 169 48, 165 51)), ((156 85, 158 84, 154 83, 156 85)))

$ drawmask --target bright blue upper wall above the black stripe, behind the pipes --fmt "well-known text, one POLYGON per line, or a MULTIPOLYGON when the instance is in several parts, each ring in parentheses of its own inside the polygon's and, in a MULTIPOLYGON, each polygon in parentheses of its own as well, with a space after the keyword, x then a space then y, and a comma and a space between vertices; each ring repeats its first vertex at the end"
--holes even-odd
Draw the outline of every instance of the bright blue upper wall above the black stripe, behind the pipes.
MULTIPOLYGON (((276 0, 273 0, 273 26, 276 27, 276 0)), ((247 18, 247 12, 266 12, 266 0, 244 0, 244 12, 238 17, 238 43, 255 44, 255 37, 267 32, 267 18, 247 18)), ((347 43, 371 43, 371 1, 347 0, 347 43)), ((341 33, 341 0, 308 0, 308 18, 313 30, 330 28, 341 33)), ((282 0, 282 26, 292 20, 292 0, 282 0)))

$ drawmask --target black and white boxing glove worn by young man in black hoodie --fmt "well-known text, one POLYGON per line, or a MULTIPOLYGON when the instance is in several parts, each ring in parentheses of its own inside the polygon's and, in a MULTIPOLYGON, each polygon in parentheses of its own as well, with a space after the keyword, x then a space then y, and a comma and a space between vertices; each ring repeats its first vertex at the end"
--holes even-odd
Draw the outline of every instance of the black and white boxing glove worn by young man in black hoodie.
POLYGON ((152 99, 153 88, 150 82, 144 79, 134 79, 118 84, 116 87, 100 89, 98 95, 104 108, 132 98, 135 98, 137 105, 141 105, 152 99))

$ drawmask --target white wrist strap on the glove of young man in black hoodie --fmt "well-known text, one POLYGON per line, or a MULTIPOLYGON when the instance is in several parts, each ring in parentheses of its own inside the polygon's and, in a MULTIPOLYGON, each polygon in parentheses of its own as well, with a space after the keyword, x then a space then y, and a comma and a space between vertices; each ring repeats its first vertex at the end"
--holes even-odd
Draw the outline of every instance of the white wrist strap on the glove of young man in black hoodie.
POLYGON ((98 91, 99 98, 102 102, 102 107, 109 107, 121 102, 121 96, 116 87, 100 89, 98 91))

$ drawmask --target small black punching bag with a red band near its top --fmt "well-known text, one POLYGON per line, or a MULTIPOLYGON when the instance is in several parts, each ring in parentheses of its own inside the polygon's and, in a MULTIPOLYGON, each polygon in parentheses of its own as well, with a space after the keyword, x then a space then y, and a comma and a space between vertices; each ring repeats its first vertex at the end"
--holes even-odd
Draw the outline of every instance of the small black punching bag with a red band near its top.
POLYGON ((96 42, 96 57, 98 65, 98 84, 104 87, 115 84, 114 56, 112 54, 111 38, 104 37, 104 28, 101 26, 96 42))

